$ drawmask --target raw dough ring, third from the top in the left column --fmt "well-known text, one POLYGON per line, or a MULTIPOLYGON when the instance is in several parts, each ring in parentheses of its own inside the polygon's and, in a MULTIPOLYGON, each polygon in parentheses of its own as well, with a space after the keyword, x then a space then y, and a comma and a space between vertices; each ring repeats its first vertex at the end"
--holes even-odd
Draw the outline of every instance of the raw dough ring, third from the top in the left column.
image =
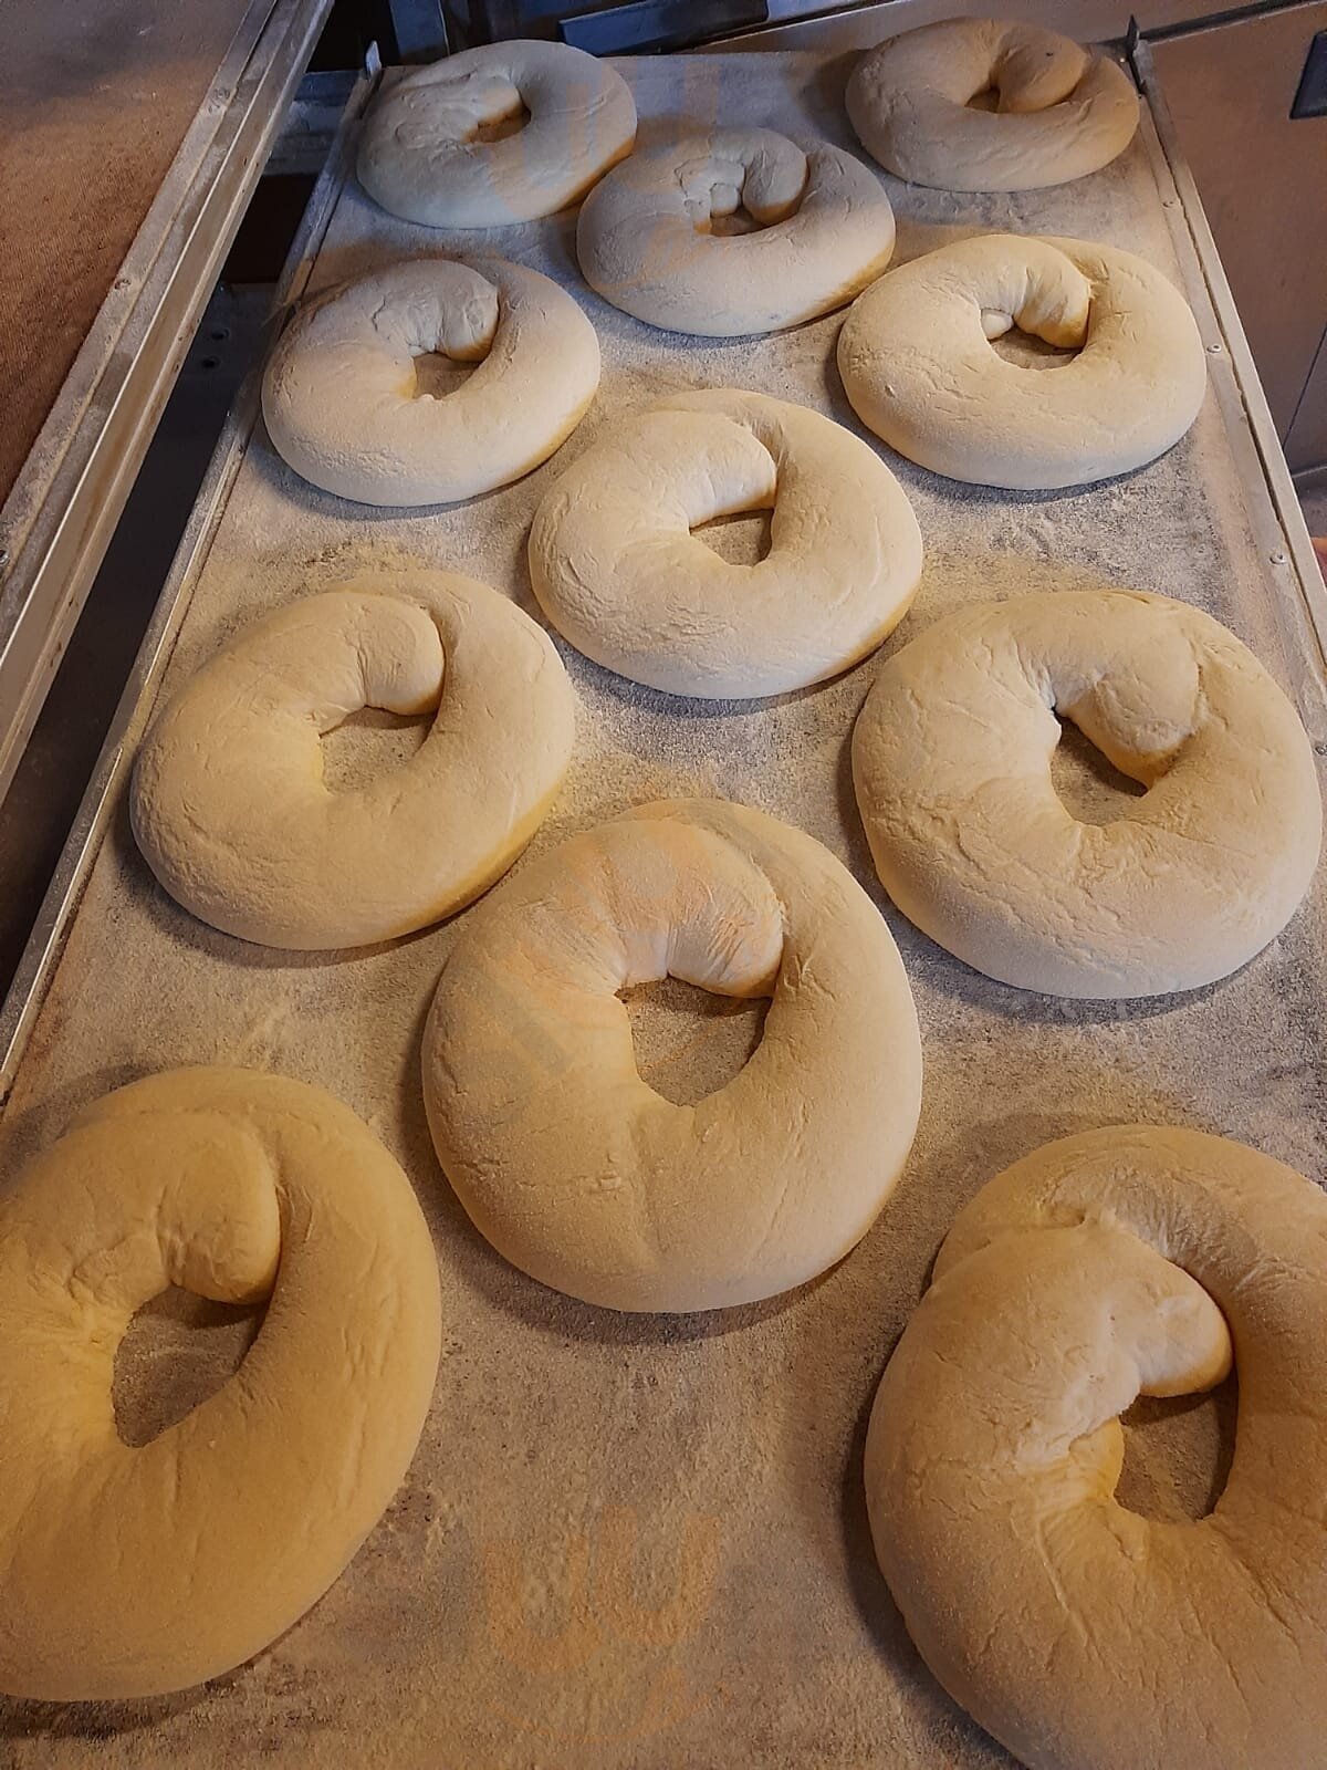
POLYGON ((534 835, 571 758, 548 635, 487 584, 414 572, 248 627, 157 719, 131 814, 166 890, 267 947, 393 940, 460 910, 534 835), (320 738, 363 706, 423 713, 421 749, 352 791, 320 738))

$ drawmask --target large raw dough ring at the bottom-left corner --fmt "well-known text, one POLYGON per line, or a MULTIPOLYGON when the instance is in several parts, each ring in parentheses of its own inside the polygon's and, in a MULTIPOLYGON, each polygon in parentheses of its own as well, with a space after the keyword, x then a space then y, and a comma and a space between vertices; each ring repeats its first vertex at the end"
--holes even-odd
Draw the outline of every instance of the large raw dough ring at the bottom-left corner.
POLYGON ((156 1696, 290 1628, 396 1492, 439 1359, 410 1184, 322 1089, 173 1069, 0 1202, 0 1690, 156 1696), (271 1297, 237 1375, 142 1446, 115 1352, 168 1285, 271 1297))

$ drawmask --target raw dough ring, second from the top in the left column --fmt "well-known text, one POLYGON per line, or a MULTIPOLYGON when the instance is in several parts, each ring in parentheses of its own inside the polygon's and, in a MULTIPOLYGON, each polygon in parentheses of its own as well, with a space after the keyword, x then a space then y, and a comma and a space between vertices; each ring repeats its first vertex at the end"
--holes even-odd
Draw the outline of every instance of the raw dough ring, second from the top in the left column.
POLYGON ((502 258, 419 258, 343 283, 287 326, 262 381, 276 453, 361 504, 453 504, 547 460, 600 384, 594 327, 566 290, 502 258), (455 391, 414 359, 483 358, 455 391))

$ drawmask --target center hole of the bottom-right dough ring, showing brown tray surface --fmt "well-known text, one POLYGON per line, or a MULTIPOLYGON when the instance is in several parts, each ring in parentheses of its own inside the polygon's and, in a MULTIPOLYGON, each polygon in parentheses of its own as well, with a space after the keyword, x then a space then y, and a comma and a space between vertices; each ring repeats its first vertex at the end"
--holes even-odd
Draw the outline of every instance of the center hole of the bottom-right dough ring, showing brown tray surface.
POLYGON ((1237 1411, 1233 1375, 1208 1395, 1139 1395, 1124 1414, 1120 1504, 1162 1524, 1205 1519, 1226 1489, 1237 1411))

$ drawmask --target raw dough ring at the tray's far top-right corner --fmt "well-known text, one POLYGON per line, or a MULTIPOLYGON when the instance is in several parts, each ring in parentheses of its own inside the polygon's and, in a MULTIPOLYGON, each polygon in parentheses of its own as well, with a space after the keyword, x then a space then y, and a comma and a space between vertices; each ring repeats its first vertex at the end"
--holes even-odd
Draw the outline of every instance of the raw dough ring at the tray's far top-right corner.
POLYGON ((1138 92, 1109 57, 996 18, 950 18, 881 42, 844 99, 881 166, 948 191, 1067 184, 1109 165, 1138 127, 1138 92), (1000 108, 971 108, 991 88, 1000 108))

